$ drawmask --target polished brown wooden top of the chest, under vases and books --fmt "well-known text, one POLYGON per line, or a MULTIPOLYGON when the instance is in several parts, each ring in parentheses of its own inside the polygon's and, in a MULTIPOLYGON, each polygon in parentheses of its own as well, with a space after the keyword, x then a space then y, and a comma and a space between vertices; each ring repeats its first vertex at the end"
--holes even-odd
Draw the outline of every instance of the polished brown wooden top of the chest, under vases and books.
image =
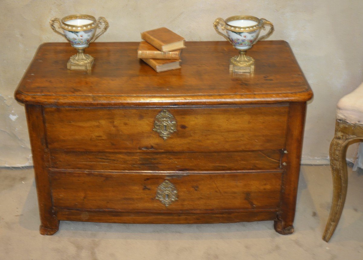
POLYGON ((137 58, 139 42, 99 42, 91 72, 69 71, 68 43, 42 44, 15 96, 26 104, 59 106, 172 106, 305 102, 312 96, 285 41, 258 42, 248 55, 253 74, 231 73, 229 42, 186 42, 181 69, 156 73, 137 58))

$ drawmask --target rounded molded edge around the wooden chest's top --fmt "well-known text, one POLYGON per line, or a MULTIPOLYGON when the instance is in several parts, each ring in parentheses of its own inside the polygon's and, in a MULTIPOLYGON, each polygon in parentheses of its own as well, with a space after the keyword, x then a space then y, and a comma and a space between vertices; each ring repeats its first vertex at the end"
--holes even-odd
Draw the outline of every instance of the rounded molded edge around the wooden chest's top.
MULTIPOLYGON (((207 41, 208 43, 216 43, 223 41, 207 41)), ((207 43, 206 42, 206 43, 207 43)), ((264 42, 264 41, 262 41, 264 42)), ((291 56, 294 59, 295 64, 299 67, 296 58, 290 48, 288 42, 283 40, 277 41, 266 41, 270 44, 281 45, 284 44, 290 50, 291 56)), ((125 42, 129 44, 135 44, 136 42, 125 42)), ((191 42, 189 42, 191 43, 191 42)), ((196 43, 196 42, 194 42, 196 43)), ((43 46, 54 45, 54 44, 67 44, 66 42, 46 42, 41 44, 34 57, 32 62, 37 56, 37 53, 43 46)), ((93 43, 97 44, 97 43, 93 43)), ((99 42, 98 44, 105 44, 104 42, 99 42)), ((119 44, 118 42, 107 42, 107 44, 119 44)), ((21 86, 24 81, 26 74, 32 62, 29 63, 28 69, 24 73, 23 78, 21 79, 16 91, 15 91, 15 99, 20 103, 25 104, 40 104, 40 105, 52 105, 52 106, 189 106, 189 105, 230 105, 230 104, 257 104, 257 103, 281 103, 281 102, 306 102, 313 97, 313 92, 309 86, 309 83, 306 81, 305 76, 301 71, 301 75, 305 81, 306 89, 299 92, 291 92, 289 95, 286 93, 264 93, 258 94, 258 97, 253 93, 248 94, 203 94, 203 95, 168 95, 168 96, 160 96, 160 95, 54 95, 50 94, 28 94, 21 91, 21 86), (273 94, 273 98, 271 96, 273 94)))

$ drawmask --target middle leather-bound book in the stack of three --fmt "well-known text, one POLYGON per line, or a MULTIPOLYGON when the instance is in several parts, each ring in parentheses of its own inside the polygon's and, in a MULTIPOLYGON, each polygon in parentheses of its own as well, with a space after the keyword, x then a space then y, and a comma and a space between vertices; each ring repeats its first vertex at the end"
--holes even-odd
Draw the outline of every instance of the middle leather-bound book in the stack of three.
POLYGON ((141 41, 137 49, 139 59, 180 59, 181 49, 173 51, 160 51, 146 41, 141 41))

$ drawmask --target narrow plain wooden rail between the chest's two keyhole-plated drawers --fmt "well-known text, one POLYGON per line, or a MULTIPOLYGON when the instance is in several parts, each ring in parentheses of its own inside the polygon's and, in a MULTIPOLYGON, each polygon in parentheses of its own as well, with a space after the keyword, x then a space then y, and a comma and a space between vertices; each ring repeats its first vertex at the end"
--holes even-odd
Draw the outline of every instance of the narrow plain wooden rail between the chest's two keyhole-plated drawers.
POLYGON ((282 150, 242 152, 83 152, 51 150, 51 168, 124 171, 232 171, 280 169, 282 150))

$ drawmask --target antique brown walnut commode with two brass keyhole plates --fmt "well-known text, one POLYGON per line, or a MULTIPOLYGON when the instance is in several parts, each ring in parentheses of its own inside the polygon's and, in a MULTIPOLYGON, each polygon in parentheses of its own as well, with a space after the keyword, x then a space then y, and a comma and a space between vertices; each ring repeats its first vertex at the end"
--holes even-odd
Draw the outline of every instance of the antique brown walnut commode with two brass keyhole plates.
POLYGON ((252 75, 229 72, 229 42, 187 42, 182 68, 164 73, 137 46, 94 43, 87 73, 67 70, 68 43, 46 43, 19 84, 40 233, 59 220, 274 220, 293 232, 312 92, 289 45, 256 44, 252 75))

